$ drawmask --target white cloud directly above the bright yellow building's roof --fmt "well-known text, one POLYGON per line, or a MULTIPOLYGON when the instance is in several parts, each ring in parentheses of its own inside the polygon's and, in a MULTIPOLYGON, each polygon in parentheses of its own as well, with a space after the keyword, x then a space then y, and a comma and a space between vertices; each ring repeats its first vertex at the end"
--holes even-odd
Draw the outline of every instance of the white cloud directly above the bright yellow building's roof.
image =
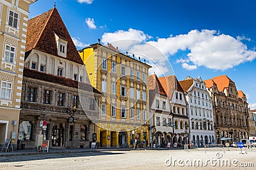
POLYGON ((115 32, 105 32, 102 35, 101 41, 104 44, 111 43, 114 46, 118 46, 119 49, 126 51, 129 50, 131 46, 141 43, 139 41, 147 41, 150 38, 151 37, 143 31, 130 28, 128 31, 118 30, 115 32))

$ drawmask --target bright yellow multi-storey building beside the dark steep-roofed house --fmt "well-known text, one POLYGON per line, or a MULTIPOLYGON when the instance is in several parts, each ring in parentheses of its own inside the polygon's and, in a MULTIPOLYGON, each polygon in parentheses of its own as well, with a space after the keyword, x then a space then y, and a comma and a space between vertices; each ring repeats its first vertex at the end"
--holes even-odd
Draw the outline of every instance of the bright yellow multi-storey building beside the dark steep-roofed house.
POLYGON ((148 134, 148 69, 151 67, 124 55, 108 43, 95 43, 79 51, 90 82, 102 92, 101 114, 95 122, 97 142, 103 147, 132 147, 135 136, 148 134))

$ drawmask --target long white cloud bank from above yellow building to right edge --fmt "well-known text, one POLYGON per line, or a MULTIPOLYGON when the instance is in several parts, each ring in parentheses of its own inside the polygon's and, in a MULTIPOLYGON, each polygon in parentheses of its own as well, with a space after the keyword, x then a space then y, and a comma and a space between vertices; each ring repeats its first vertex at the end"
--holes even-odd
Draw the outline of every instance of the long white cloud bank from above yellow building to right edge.
POLYGON ((181 50, 187 55, 180 57, 177 62, 181 62, 182 67, 188 70, 204 66, 223 71, 256 58, 256 52, 248 50, 247 46, 241 42, 241 39, 249 41, 249 38, 244 36, 234 38, 227 34, 220 34, 220 31, 215 30, 192 30, 188 34, 170 35, 168 38, 157 38, 156 41, 149 41, 150 38, 151 36, 143 31, 129 29, 128 31, 118 30, 113 33, 104 33, 102 42, 121 41, 122 43, 116 42, 115 44, 115 46, 120 47, 119 49, 148 55, 152 60, 160 62, 160 66, 164 66, 161 62, 166 62, 168 57, 172 57, 181 50), (124 39, 138 39, 147 41, 147 43, 138 43, 138 41, 132 40, 122 41, 124 39), (152 49, 152 47, 157 50, 152 49))

